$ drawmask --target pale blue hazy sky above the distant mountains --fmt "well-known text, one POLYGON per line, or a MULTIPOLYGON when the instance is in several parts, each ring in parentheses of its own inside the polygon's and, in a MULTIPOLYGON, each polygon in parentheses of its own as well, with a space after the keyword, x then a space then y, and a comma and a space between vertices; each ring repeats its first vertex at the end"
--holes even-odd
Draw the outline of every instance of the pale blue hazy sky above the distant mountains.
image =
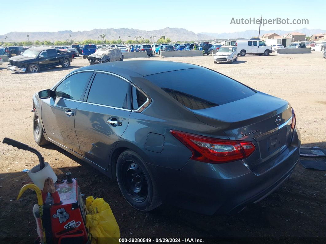
MULTIPOLYGON (((326 1, 4 1, 12 9, 2 18, 0 35, 11 31, 84 31, 105 28, 158 30, 165 27, 200 32, 258 29, 257 24, 230 24, 234 19, 308 19, 309 24, 267 24, 263 30, 326 29, 326 1), (19 7, 20 6, 20 7, 19 7), (161 10, 162 9, 162 10, 161 10)), ((6 12, 6 11, 5 11, 6 12)))

